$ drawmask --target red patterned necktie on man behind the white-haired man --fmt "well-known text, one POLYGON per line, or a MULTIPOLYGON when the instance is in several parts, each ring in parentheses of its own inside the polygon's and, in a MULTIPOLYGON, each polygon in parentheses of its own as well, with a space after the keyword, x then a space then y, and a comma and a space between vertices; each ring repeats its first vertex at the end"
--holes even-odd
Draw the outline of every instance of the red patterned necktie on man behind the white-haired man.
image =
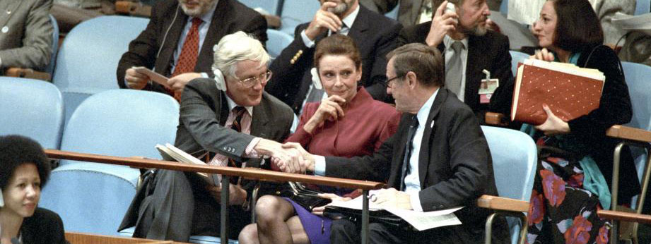
MULTIPOLYGON (((197 64, 197 56, 199 56, 199 25, 202 22, 203 20, 200 18, 192 18, 192 27, 185 36, 181 54, 179 55, 176 68, 174 68, 174 73, 172 73, 171 77, 194 71, 194 66, 197 64)), ((180 101, 181 97, 178 94, 172 90, 168 90, 168 92, 172 97, 180 101)))

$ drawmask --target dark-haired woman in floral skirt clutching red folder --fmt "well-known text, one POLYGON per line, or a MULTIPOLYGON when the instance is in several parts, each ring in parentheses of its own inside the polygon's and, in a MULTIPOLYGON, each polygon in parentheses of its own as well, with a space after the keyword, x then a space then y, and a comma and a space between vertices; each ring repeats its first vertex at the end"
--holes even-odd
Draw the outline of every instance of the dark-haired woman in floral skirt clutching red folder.
MULTIPOLYGON (((527 128, 539 146, 539 165, 529 206, 528 243, 606 243, 609 229, 597 209, 609 209, 613 150, 606 137, 613 125, 631 121, 631 98, 617 55, 603 45, 599 19, 587 0, 549 0, 534 35, 544 49, 534 59, 574 63, 606 76, 599 108, 570 121, 558 118, 546 104, 547 118, 527 128)), ((577 93, 579 94, 579 93, 577 93)), ((571 99, 571 97, 569 98, 571 99)), ((622 152, 619 203, 639 192, 633 160, 622 152)))

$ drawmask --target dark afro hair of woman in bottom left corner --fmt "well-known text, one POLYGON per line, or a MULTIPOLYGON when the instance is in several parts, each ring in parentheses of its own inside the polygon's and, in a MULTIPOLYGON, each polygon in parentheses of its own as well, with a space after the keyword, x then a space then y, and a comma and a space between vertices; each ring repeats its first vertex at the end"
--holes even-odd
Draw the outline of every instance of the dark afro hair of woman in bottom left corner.
POLYGON ((35 164, 41 187, 49 177, 50 164, 38 142, 22 135, 0 136, 0 189, 4 190, 21 164, 35 164))

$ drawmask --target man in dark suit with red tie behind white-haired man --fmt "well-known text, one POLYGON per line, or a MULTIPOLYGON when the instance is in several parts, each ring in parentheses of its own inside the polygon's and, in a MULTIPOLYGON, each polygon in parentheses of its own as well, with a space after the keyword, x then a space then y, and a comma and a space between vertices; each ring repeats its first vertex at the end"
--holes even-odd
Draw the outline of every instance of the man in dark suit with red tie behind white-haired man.
POLYGON ((120 88, 164 92, 180 100, 194 78, 212 76, 213 46, 237 31, 266 42, 266 20, 235 0, 162 0, 152 8, 147 28, 129 44, 117 66, 120 88), (134 67, 150 68, 170 78, 153 83, 134 67))

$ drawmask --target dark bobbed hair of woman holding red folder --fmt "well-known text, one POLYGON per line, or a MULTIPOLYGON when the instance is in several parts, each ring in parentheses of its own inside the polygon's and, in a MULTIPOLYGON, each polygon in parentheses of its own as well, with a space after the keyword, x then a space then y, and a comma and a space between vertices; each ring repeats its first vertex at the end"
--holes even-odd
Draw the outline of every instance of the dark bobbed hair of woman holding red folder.
POLYGON ((604 43, 604 31, 587 0, 553 1, 558 20, 554 45, 565 51, 580 52, 604 43))

